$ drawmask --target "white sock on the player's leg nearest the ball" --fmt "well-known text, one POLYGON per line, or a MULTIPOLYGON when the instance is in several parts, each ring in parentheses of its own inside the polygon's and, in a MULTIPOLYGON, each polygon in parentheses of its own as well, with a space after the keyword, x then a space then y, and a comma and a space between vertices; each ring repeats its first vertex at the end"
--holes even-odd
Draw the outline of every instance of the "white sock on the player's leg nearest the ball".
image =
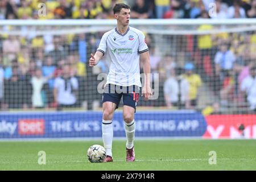
POLYGON ((112 156, 113 124, 112 120, 102 119, 102 139, 106 155, 112 156))

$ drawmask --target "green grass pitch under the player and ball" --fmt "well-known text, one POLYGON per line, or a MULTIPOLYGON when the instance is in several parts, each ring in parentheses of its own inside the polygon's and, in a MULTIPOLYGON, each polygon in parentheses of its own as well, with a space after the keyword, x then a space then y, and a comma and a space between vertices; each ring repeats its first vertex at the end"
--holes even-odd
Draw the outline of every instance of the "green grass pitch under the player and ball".
POLYGON ((90 163, 86 151, 100 140, 0 142, 0 170, 256 170, 255 140, 136 140, 133 163, 125 162, 125 143, 114 140, 113 163, 90 163), (39 151, 46 164, 38 164, 39 151))

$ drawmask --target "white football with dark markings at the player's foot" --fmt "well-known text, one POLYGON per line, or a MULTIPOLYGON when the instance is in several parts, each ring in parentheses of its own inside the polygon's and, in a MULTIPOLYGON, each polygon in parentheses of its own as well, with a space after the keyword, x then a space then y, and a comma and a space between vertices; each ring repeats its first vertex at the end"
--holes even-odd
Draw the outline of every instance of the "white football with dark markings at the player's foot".
POLYGON ((105 148, 99 144, 94 144, 88 148, 87 156, 91 163, 102 163, 106 156, 105 148))

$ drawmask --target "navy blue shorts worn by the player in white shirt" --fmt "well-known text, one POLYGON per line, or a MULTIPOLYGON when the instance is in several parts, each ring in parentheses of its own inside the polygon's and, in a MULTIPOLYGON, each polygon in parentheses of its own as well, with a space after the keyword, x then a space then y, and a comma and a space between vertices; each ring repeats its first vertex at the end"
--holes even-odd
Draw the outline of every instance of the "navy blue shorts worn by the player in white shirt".
POLYGON ((119 86, 108 84, 104 88, 104 93, 102 97, 102 103, 104 102, 113 102, 118 108, 121 97, 123 96, 123 105, 133 107, 136 112, 137 102, 139 101, 139 86, 119 86))

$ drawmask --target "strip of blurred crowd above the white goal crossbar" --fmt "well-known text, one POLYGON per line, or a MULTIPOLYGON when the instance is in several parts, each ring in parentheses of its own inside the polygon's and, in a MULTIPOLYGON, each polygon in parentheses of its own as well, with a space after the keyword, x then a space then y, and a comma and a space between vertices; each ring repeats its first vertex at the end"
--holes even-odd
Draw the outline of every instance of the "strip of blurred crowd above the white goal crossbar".
POLYGON ((131 18, 199 18, 216 4, 212 18, 255 18, 255 0, 2 0, 0 19, 112 19, 117 2, 131 6, 131 18), (45 3, 46 15, 38 10, 45 3), (209 6, 210 5, 210 6, 209 6))

